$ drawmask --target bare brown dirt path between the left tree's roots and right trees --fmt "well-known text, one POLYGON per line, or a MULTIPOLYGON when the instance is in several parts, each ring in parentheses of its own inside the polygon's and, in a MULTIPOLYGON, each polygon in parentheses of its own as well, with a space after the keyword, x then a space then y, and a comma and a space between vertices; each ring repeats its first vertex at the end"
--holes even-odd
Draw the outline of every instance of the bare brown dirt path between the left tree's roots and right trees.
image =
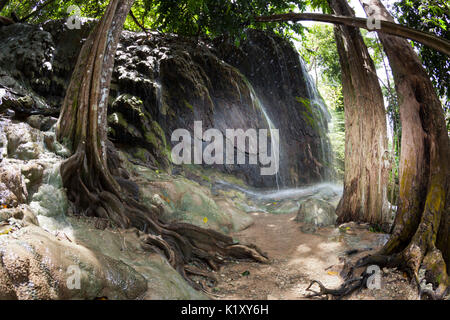
MULTIPOLYGON (((302 223, 295 214, 253 213, 255 223, 233 234, 241 242, 251 242, 265 251, 271 262, 230 262, 218 271, 213 299, 277 300, 312 299, 306 295, 311 280, 336 288, 343 279, 339 273, 350 257, 350 249, 362 249, 351 261, 374 252, 386 239, 385 234, 369 231, 368 226, 354 223, 344 228, 326 227, 313 233, 300 230, 302 223), (372 248, 372 250, 370 250, 372 248)), ((383 269, 380 289, 356 291, 345 299, 411 300, 418 299, 417 287, 406 274, 383 269)), ((313 287, 312 289, 318 289, 313 287)), ((313 299, 323 299, 313 298, 313 299)))

